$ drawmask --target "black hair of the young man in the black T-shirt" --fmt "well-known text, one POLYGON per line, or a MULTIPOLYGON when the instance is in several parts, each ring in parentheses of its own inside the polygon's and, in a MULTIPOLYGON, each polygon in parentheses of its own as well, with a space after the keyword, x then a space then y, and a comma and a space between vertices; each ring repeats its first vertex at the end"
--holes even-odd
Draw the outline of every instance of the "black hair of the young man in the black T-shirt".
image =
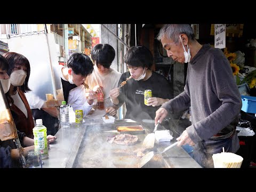
POLYGON ((136 67, 148 67, 149 69, 153 65, 154 57, 146 46, 136 45, 130 47, 130 49, 124 55, 124 62, 126 65, 136 67))

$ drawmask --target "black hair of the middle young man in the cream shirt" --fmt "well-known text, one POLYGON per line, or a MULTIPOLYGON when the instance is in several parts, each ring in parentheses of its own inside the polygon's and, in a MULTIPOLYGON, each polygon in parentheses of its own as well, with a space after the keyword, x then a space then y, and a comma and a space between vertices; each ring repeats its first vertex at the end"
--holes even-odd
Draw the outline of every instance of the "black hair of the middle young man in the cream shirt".
POLYGON ((115 59, 115 49, 109 44, 97 44, 93 47, 92 60, 98 64, 102 65, 105 68, 110 68, 113 60, 115 59))

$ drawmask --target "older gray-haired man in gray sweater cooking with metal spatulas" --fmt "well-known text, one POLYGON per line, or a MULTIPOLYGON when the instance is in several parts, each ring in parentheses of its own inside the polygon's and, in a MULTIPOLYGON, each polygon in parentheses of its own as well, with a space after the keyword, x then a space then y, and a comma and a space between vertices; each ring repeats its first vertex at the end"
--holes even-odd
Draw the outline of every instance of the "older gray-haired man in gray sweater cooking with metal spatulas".
POLYGON ((214 167, 212 155, 236 153, 236 133, 241 95, 234 81, 230 64, 220 49, 199 44, 188 24, 168 24, 161 28, 157 39, 168 57, 188 63, 184 91, 164 103, 156 111, 155 124, 168 113, 191 106, 191 122, 177 138, 178 146, 194 146, 194 158, 202 167, 214 167))

